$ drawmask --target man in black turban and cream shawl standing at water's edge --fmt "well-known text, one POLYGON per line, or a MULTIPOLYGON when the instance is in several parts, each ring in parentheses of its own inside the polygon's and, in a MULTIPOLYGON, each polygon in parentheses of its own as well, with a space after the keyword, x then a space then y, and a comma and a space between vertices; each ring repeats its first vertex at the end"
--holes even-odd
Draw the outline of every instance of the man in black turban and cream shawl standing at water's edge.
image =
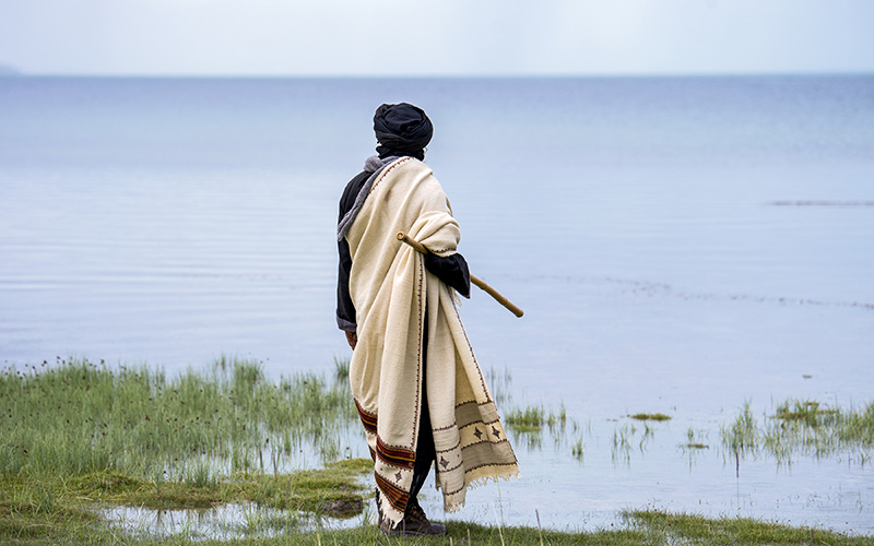
POLYGON ((441 535, 416 498, 433 463, 447 511, 471 484, 517 476, 518 465, 456 307, 470 273, 449 201, 423 163, 430 120, 406 103, 381 105, 374 130, 379 155, 340 200, 338 325, 353 349, 380 529, 441 535))

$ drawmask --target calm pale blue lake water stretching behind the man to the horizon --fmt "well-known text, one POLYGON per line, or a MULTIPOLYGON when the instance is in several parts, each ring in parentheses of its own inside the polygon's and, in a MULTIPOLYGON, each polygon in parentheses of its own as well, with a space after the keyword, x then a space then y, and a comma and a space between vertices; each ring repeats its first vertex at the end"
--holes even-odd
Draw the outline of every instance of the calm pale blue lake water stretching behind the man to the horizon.
POLYGON ((874 533, 870 463, 736 474, 719 434, 745 401, 872 399, 869 75, 0 79, 0 359, 332 370, 336 200, 398 100, 434 120, 472 271, 525 310, 462 307, 511 378, 504 411, 577 424, 518 438, 523 479, 448 518, 590 529, 656 507, 874 533), (617 451, 638 412, 673 419, 617 451), (710 448, 681 448, 689 428, 710 448))

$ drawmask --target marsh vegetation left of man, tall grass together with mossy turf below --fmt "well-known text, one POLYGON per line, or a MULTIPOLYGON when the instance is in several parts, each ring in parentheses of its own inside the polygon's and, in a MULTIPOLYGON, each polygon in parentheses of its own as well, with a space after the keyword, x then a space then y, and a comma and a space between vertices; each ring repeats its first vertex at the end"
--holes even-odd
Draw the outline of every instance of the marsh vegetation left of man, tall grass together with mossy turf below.
POLYGON ((90 526, 101 505, 357 514, 359 476, 373 463, 331 462, 351 425, 346 383, 314 373, 269 381, 251 360, 223 357, 175 378, 85 359, 9 368, 0 373, 0 538, 90 526), (304 450, 326 467, 294 468, 304 450))

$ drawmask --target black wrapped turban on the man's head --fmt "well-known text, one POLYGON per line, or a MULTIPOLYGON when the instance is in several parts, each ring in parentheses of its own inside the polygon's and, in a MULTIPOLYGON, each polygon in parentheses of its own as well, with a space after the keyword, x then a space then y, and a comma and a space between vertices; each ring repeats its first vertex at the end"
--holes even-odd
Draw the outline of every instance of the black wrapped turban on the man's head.
POLYGON ((374 131, 379 141, 379 155, 404 154, 424 157, 422 151, 430 142, 434 128, 428 116, 408 103, 383 104, 374 115, 374 131))

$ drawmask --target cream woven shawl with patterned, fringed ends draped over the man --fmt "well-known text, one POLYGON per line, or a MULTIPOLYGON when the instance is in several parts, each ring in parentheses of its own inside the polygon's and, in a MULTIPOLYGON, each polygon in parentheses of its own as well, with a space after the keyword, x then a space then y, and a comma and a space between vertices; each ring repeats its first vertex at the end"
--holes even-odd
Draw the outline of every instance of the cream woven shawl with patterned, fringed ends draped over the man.
POLYGON ((442 188, 412 157, 380 173, 346 233, 358 324, 350 382, 375 459, 380 508, 394 523, 403 518, 413 477, 426 310, 427 401, 445 509, 461 508, 472 484, 519 473, 454 292, 425 269, 422 254, 398 241, 398 232, 438 256, 454 253, 460 239, 442 188))

